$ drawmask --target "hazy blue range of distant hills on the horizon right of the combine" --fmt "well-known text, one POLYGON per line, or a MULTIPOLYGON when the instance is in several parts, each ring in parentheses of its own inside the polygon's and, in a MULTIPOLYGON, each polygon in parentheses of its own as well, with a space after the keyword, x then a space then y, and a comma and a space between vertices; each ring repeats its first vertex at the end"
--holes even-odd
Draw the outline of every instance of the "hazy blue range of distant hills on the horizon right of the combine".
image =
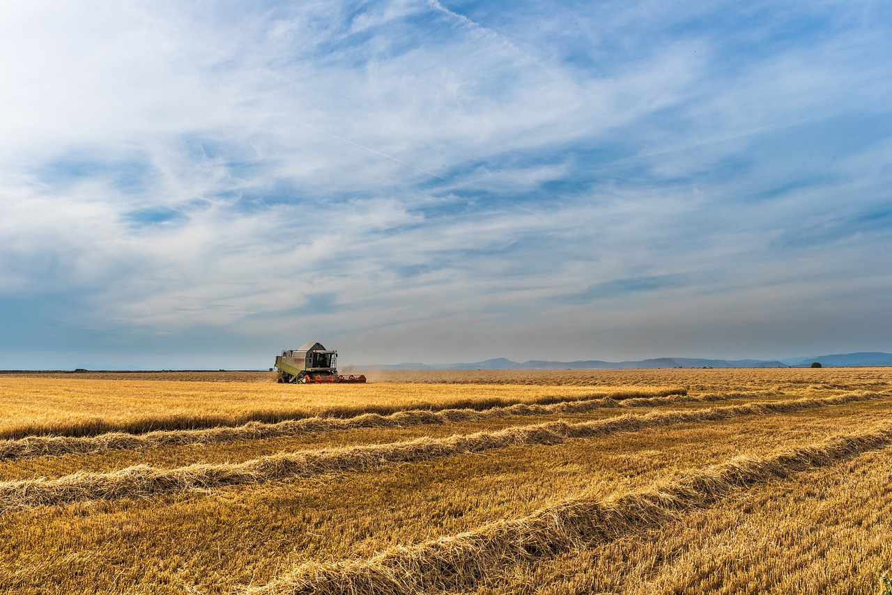
POLYGON ((484 359, 461 364, 405 363, 378 366, 354 366, 357 369, 376 370, 592 370, 632 368, 808 368, 813 362, 826 368, 859 366, 892 366, 892 353, 863 351, 839 355, 822 355, 814 358, 791 359, 698 359, 657 358, 635 361, 602 361, 584 359, 577 361, 546 361, 530 359, 523 363, 511 359, 484 359))

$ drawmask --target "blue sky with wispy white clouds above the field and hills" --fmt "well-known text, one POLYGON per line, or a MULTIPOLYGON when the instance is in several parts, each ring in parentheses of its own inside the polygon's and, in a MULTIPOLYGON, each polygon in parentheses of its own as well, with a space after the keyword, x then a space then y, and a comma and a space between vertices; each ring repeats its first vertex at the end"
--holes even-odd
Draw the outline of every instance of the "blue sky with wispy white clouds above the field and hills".
POLYGON ((892 351, 888 0, 9 0, 0 80, 0 369, 892 351))

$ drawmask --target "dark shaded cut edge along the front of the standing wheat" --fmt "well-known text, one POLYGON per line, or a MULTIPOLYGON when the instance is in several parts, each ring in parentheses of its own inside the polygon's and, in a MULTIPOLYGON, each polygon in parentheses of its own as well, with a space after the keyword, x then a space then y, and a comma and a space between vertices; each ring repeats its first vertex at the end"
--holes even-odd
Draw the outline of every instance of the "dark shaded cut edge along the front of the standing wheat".
MULTIPOLYGON (((404 409, 398 405, 386 405, 378 403, 366 403, 362 405, 345 404, 337 407, 328 407, 324 410, 291 410, 291 411, 252 411, 237 416, 192 415, 171 417, 140 417, 132 421, 107 421, 104 419, 89 419, 70 423, 45 423, 10 427, 0 430, 0 440, 19 440, 29 437, 95 437, 102 434, 150 434, 153 432, 182 432, 202 429, 233 428, 244 425, 261 424, 275 425, 286 421, 300 421, 303 419, 349 419, 363 415, 391 416, 407 410, 418 411, 442 411, 447 409, 471 409, 482 411, 485 409, 510 407, 511 405, 550 405, 574 401, 613 400, 635 401, 640 406, 647 407, 650 399, 674 399, 684 396, 688 390, 684 387, 644 387, 641 389, 625 389, 609 392, 592 392, 577 395, 543 394, 533 399, 506 399, 502 397, 488 399, 452 399, 440 402, 420 402, 412 405, 413 409, 404 409)), ((734 394, 731 393, 729 397, 734 394)), ((702 399, 708 401, 721 400, 724 395, 706 395, 702 399)), ((739 397, 736 397, 739 398, 739 397)))

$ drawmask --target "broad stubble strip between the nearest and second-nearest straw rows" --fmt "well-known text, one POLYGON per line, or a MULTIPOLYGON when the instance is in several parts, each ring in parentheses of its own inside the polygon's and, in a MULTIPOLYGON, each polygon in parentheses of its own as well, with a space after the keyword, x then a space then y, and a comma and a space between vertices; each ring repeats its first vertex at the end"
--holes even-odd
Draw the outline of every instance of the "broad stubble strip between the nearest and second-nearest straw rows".
POLYGON ((528 516, 590 485, 603 500, 741 451, 764 456, 817 436, 854 433, 888 410, 888 401, 869 401, 555 447, 517 446, 211 497, 186 492, 23 509, 0 524, 0 593, 45 595, 43 585, 52 582, 62 585, 59 592, 87 595, 224 595, 233 585, 266 583, 304 561, 369 558, 392 545, 528 516), (70 563, 54 564, 68 556, 70 563), (20 568, 27 573, 10 580, 20 568))

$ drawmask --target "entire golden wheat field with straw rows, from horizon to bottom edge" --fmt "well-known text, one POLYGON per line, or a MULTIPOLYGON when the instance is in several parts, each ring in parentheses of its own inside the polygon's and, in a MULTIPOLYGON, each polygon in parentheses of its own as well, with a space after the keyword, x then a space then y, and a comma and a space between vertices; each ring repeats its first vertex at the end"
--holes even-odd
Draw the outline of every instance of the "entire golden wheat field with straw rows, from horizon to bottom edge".
POLYGON ((4 593, 878 593, 892 368, 0 374, 4 593))

